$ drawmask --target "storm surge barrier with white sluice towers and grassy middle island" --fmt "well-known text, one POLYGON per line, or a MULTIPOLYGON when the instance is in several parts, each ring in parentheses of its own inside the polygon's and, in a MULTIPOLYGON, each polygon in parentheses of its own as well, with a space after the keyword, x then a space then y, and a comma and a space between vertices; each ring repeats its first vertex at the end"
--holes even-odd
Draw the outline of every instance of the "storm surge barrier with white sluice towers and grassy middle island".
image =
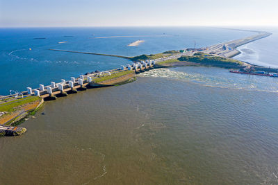
MULTIPOLYGON (((32 89, 27 87, 27 91, 23 91, 21 94, 24 96, 38 96, 40 98, 49 98, 50 100, 56 99, 56 96, 67 96, 67 93, 77 93, 77 89, 86 90, 87 87, 104 87, 109 86, 101 84, 101 80, 116 80, 117 83, 121 83, 123 80, 129 80, 132 78, 129 71, 133 73, 141 73, 143 71, 154 69, 155 60, 145 60, 141 62, 135 62, 132 65, 122 66, 122 68, 112 69, 109 71, 92 72, 80 75, 79 78, 71 77, 70 80, 62 79, 61 82, 51 82, 51 85, 40 85, 39 88, 32 89), (122 76, 128 76, 128 78, 122 78, 122 76), (115 79, 114 79, 115 78, 115 79)), ((111 84, 113 85, 113 84, 111 84)))

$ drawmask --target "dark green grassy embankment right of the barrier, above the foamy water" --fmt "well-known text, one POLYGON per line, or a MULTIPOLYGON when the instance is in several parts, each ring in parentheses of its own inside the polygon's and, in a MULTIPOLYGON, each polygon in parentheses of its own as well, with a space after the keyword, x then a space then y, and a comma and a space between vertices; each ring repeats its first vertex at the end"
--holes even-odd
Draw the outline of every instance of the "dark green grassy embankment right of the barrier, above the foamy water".
POLYGON ((177 60, 165 60, 163 62, 158 62, 158 65, 171 67, 175 64, 183 62, 183 65, 197 65, 197 66, 209 66, 209 67, 224 67, 240 69, 245 67, 245 63, 239 60, 234 60, 230 58, 222 58, 215 55, 207 55, 204 53, 195 53, 192 56, 186 55, 178 58, 177 60))

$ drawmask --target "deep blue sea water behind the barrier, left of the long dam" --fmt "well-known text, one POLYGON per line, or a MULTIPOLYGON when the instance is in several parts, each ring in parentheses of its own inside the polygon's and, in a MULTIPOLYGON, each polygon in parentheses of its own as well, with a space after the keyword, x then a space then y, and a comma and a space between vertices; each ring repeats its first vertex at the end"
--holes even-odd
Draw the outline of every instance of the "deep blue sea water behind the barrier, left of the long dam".
POLYGON ((115 69, 131 63, 122 58, 49 49, 134 56, 192 48, 194 42, 197 47, 208 46, 253 34, 206 27, 0 28, 0 94, 9 94, 9 90, 24 91, 26 87, 49 85, 51 81, 60 82, 62 78, 69 79, 82 73, 115 69), (138 39, 145 42, 139 46, 127 46, 138 39))

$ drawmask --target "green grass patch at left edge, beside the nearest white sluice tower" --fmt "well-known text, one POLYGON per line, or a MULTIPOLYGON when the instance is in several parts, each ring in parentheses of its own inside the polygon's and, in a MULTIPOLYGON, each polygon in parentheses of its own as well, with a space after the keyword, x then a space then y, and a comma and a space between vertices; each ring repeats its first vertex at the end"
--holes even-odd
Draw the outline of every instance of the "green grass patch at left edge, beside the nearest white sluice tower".
POLYGON ((1 103, 0 112, 13 112, 15 107, 34 102, 36 100, 40 100, 40 98, 38 96, 28 96, 26 98, 20 98, 17 100, 8 101, 6 103, 1 103))

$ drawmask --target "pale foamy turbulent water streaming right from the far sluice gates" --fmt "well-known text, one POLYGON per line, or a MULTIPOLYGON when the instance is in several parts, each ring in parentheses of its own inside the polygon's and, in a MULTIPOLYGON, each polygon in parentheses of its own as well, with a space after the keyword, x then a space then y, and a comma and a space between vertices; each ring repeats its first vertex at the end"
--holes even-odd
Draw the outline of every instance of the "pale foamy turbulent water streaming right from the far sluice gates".
POLYGON ((214 67, 154 69, 152 71, 140 73, 139 76, 172 78, 184 82, 194 82, 195 84, 208 87, 278 92, 277 78, 238 75, 236 73, 229 73, 229 70, 214 67))

